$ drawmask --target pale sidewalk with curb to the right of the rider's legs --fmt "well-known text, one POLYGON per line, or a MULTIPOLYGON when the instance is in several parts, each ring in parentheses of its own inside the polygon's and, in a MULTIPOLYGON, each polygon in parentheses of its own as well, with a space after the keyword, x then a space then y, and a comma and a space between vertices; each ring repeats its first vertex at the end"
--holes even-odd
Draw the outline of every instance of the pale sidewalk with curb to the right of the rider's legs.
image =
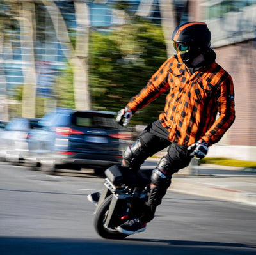
MULTIPOLYGON (((149 160, 158 161, 159 159, 150 158, 149 160)), ((211 164, 200 166, 190 164, 179 173, 173 174, 169 190, 256 206, 255 170, 211 164)))

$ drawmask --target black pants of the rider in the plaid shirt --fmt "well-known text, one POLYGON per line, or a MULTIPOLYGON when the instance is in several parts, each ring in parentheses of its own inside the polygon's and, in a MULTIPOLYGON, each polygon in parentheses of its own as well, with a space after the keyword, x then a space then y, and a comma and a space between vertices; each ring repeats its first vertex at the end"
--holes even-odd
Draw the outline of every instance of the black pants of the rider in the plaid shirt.
MULTIPOLYGON (((166 180, 168 181, 166 183, 168 183, 168 185, 171 183, 172 175, 177 173, 180 169, 188 166, 192 158, 189 156, 187 146, 172 143, 168 140, 168 131, 163 128, 159 120, 148 125, 147 128, 145 128, 145 130, 143 130, 143 132, 138 136, 138 139, 134 144, 129 148, 129 151, 132 151, 134 148, 134 151, 129 154, 129 157, 132 159, 129 162, 127 161, 127 166, 132 169, 139 169, 141 164, 143 164, 148 157, 168 147, 166 155, 161 158, 157 165, 166 165, 164 168, 166 170, 164 171, 164 175, 166 176, 166 180), (140 143, 138 143, 138 141, 140 141, 140 143)), ((166 185, 166 183, 161 184, 160 182, 157 189, 155 187, 156 185, 154 185, 155 190, 150 190, 150 193, 148 194, 148 203, 145 208, 147 213, 145 214, 145 217, 143 217, 143 220, 146 222, 149 222, 154 218, 156 206, 161 203, 161 199, 168 189, 168 185, 166 185), (158 200, 155 199, 155 201, 157 200, 157 202, 150 203, 150 201, 154 201, 150 196, 156 196, 158 200)), ((152 184, 154 184, 153 180, 152 184)))

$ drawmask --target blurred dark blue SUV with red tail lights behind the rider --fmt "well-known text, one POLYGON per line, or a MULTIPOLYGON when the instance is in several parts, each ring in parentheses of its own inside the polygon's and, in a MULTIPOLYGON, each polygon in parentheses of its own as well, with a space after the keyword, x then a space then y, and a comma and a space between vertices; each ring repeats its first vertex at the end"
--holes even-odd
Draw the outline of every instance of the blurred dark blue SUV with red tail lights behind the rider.
MULTIPOLYGON (((56 168, 90 168, 95 173, 122 162, 122 151, 131 139, 115 121, 115 112, 57 109, 28 134, 29 153, 36 163, 56 168)), ((44 166, 44 168, 45 168, 44 166)))

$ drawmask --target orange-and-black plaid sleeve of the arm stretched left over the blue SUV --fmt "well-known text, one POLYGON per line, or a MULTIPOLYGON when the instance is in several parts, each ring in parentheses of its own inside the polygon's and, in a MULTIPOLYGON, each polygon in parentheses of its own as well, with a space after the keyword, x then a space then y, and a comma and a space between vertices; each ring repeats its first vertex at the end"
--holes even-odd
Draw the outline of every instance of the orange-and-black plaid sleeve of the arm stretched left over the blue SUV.
POLYGON ((136 112, 148 105, 170 88, 167 78, 171 62, 172 60, 170 58, 167 59, 163 65, 161 65, 159 70, 152 75, 145 88, 141 89, 140 93, 131 98, 131 101, 127 104, 127 108, 131 109, 133 112, 136 112))

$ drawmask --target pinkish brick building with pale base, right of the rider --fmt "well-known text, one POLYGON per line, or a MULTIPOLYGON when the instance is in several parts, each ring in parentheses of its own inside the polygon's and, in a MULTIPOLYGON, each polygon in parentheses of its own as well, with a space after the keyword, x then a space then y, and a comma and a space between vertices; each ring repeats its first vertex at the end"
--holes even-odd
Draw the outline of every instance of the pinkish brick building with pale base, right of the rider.
POLYGON ((190 7, 190 19, 207 22, 216 61, 234 81, 236 120, 212 155, 256 161, 256 1, 200 0, 190 7))

